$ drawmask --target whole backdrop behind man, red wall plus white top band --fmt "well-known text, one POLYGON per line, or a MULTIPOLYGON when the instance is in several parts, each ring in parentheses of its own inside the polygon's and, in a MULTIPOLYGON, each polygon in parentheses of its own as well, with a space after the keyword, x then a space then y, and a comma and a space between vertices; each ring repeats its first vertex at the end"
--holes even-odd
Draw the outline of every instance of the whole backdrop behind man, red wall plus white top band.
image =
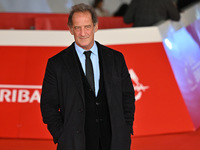
MULTIPOLYGON (((96 40, 125 56, 136 91, 135 136, 200 126, 184 100, 156 27, 99 30, 96 40)), ((1 138, 51 138, 40 112, 42 80, 47 59, 72 41, 68 31, 0 31, 1 138)), ((199 89, 199 80, 196 86, 199 89)), ((198 94, 192 105, 199 104, 198 94)))

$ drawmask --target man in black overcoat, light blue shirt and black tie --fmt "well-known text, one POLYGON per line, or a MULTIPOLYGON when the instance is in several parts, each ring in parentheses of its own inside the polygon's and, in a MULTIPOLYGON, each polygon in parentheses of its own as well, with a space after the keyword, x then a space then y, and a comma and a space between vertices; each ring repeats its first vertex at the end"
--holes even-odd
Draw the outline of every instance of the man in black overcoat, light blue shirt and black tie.
POLYGON ((129 150, 135 98, 124 57, 94 41, 92 7, 73 6, 68 26, 75 42, 47 63, 43 121, 58 150, 129 150))

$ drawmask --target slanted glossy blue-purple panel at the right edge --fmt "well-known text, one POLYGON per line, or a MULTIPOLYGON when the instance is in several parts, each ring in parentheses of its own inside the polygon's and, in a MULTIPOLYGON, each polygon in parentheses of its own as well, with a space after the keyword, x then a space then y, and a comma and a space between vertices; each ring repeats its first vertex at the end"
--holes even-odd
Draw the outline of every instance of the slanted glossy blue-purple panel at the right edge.
POLYGON ((195 128, 200 126, 200 34, 197 31, 182 28, 163 41, 195 128))

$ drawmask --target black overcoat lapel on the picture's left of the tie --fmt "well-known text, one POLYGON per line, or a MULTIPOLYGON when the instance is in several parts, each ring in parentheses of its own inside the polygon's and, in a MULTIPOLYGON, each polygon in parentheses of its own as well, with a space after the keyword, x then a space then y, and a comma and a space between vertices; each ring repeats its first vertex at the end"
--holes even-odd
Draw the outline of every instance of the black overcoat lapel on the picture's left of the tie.
POLYGON ((74 43, 68 47, 66 53, 63 55, 63 60, 67 69, 69 70, 71 77, 79 91, 82 99, 84 100, 84 89, 81 77, 81 71, 78 66, 78 56, 76 56, 76 51, 74 48, 74 43))

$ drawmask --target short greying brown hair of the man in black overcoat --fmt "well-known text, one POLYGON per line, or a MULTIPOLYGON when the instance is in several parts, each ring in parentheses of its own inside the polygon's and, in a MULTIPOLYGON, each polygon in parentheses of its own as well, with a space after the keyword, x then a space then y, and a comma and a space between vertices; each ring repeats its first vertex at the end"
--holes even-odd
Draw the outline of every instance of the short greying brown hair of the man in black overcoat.
POLYGON ((80 3, 80 4, 77 4, 77 5, 74 5, 72 7, 72 10, 70 11, 69 13, 69 17, 68 17, 68 26, 71 28, 73 23, 72 23, 72 17, 74 15, 74 13, 76 12, 89 12, 91 14, 91 17, 92 17, 92 22, 94 25, 96 25, 96 23, 98 22, 98 17, 97 17, 97 14, 94 10, 94 8, 90 5, 86 5, 84 3, 80 3))

